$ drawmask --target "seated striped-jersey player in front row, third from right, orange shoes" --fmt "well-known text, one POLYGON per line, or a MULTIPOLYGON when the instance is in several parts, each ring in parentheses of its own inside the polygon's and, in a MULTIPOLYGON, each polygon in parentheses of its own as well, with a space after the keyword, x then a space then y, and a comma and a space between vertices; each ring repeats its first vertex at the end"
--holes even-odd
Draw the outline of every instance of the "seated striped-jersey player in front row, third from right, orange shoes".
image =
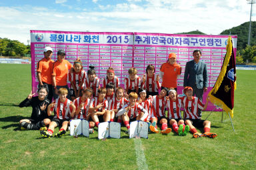
POLYGON ((159 133, 157 130, 157 123, 161 124, 160 133, 170 133, 171 128, 167 126, 167 119, 165 117, 165 103, 166 103, 166 95, 168 93, 168 89, 163 88, 159 95, 153 96, 152 99, 152 111, 151 120, 152 124, 149 126, 149 129, 154 133, 159 133))

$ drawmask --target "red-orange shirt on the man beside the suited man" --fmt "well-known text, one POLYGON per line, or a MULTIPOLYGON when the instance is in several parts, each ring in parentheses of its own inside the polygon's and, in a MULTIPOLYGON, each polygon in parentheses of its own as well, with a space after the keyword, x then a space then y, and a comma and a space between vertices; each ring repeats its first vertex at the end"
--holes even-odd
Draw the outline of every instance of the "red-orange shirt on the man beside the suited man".
POLYGON ((160 71, 163 72, 163 87, 176 88, 177 87, 177 75, 181 75, 181 66, 177 63, 171 65, 169 63, 163 63, 160 71))

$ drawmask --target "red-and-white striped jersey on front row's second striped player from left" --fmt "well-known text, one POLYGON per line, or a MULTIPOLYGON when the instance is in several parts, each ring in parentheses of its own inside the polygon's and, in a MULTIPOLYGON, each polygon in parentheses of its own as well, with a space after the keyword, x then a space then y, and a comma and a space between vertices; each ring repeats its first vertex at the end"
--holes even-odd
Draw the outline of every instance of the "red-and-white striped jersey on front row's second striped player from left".
POLYGON ((74 100, 74 105, 75 105, 75 108, 77 108, 77 109, 78 109, 79 105, 81 105, 81 103, 85 103, 85 106, 80 109, 78 115, 75 115, 74 118, 86 119, 86 117, 88 115, 90 101, 91 101, 91 99, 86 99, 85 101, 82 101, 81 97, 78 97, 77 99, 74 100))

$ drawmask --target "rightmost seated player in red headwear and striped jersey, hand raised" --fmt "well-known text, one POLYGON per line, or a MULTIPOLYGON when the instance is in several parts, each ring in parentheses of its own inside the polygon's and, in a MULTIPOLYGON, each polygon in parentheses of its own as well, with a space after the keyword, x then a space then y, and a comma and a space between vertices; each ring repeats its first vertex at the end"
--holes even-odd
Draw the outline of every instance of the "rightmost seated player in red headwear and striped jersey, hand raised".
POLYGON ((184 88, 185 97, 183 97, 182 102, 185 111, 185 124, 189 125, 191 133, 193 133, 193 137, 210 137, 215 138, 217 137, 216 133, 211 133, 211 121, 201 120, 201 115, 199 115, 198 109, 205 110, 208 105, 209 98, 205 105, 201 103, 201 101, 197 97, 193 97, 193 89, 192 87, 185 87, 184 88), (204 133, 201 134, 197 132, 197 128, 203 128, 204 133))

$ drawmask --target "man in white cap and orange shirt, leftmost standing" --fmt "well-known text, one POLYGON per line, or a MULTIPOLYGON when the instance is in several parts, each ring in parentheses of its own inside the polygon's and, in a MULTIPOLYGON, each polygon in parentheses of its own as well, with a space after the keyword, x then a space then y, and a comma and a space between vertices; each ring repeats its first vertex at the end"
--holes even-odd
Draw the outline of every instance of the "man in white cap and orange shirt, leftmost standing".
POLYGON ((37 63, 37 79, 38 87, 45 86, 49 93, 47 99, 51 101, 53 99, 53 79, 51 78, 51 72, 53 69, 53 60, 51 56, 53 55, 53 49, 51 47, 45 47, 43 50, 43 59, 39 60, 37 63))

